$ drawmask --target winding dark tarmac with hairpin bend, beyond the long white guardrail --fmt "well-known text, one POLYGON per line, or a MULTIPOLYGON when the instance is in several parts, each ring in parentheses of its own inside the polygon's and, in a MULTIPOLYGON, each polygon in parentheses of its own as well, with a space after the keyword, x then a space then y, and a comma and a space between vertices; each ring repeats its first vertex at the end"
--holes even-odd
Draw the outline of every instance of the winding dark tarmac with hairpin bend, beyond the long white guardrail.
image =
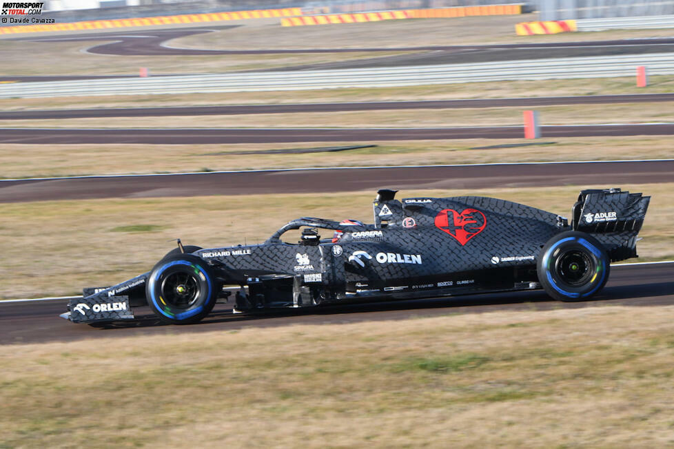
MULTIPOLYGON (((93 47, 88 48, 87 51, 95 54, 124 56, 410 52, 409 54, 399 54, 395 56, 380 56, 376 58, 294 65, 290 67, 269 69, 273 71, 400 67, 405 65, 480 63, 522 59, 564 58, 572 56, 608 56, 619 54, 674 52, 673 38, 495 45, 427 45, 419 47, 390 48, 299 48, 261 50, 202 50, 172 48, 167 45, 167 41, 171 41, 172 39, 214 32, 216 30, 229 30, 238 26, 239 25, 219 25, 204 28, 172 28, 165 30, 136 30, 112 33, 92 32, 74 36, 28 36, 14 40, 37 42, 106 41, 101 45, 94 45, 93 47)), ((63 77, 59 77, 59 79, 63 79, 63 77)), ((71 79, 86 79, 86 76, 73 76, 71 79)), ((37 76, 4 76, 0 77, 0 81, 54 81, 54 79, 51 76, 43 79, 37 76)))

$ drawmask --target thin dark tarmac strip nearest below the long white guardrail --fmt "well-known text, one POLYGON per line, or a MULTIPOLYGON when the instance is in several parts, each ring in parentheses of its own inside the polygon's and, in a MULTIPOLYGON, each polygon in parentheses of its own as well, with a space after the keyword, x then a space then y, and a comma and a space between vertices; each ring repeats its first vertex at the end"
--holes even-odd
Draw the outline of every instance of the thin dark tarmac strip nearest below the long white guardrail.
POLYGON ((0 120, 54 118, 207 116, 243 114, 292 114, 298 112, 348 112, 394 109, 462 109, 480 107, 532 107, 544 105, 596 105, 674 101, 674 94, 553 96, 533 98, 475 98, 434 101, 364 101, 358 103, 298 103, 280 105, 225 105, 178 107, 120 107, 110 109, 45 109, 0 111, 0 120))

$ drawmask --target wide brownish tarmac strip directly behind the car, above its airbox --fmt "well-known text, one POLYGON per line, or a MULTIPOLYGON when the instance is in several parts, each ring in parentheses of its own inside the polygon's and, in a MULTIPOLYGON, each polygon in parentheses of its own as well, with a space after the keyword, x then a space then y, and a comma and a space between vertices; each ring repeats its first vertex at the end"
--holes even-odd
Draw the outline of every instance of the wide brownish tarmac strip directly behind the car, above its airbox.
POLYGON ((0 203, 674 182, 674 160, 213 172, 0 181, 0 203))

